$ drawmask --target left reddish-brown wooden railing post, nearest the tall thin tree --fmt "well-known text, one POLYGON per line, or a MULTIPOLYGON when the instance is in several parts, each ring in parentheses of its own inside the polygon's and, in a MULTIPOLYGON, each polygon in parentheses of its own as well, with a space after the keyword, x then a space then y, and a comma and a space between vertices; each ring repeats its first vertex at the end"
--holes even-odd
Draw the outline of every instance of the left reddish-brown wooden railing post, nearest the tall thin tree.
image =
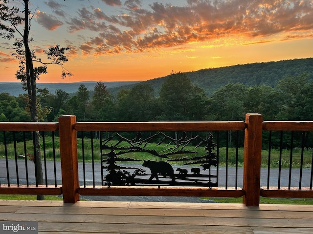
POLYGON ((62 190, 64 203, 75 203, 79 200, 77 190, 78 181, 78 158, 77 136, 73 126, 76 116, 64 115, 59 117, 60 156, 62 170, 62 190))

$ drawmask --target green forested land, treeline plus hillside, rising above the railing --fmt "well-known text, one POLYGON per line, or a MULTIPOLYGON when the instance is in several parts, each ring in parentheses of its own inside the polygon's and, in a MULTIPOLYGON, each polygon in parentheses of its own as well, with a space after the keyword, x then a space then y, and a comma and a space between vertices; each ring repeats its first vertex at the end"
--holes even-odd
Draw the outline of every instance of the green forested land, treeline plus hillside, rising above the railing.
MULTIPOLYGON (((313 59, 297 59, 172 72, 120 88, 116 95, 104 82, 96 82, 92 91, 82 83, 71 95, 62 86, 54 93, 39 89, 39 117, 47 122, 57 122, 64 114, 75 115, 78 121, 227 121, 260 113, 264 120, 313 120, 312 66, 313 59)), ((29 121, 27 98, 0 93, 0 121, 29 121)))

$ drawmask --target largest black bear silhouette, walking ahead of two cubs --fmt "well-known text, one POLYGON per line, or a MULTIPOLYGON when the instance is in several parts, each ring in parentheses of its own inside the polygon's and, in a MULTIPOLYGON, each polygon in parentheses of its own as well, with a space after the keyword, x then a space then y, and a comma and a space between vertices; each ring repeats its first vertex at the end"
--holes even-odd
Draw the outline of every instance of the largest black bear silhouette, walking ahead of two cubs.
POLYGON ((162 176, 169 176, 172 178, 173 181, 175 181, 174 176, 174 169, 168 162, 165 161, 150 161, 150 160, 144 160, 142 166, 148 167, 151 171, 151 176, 149 180, 152 180, 153 178, 156 178, 156 181, 158 181, 157 174, 160 174, 162 176))

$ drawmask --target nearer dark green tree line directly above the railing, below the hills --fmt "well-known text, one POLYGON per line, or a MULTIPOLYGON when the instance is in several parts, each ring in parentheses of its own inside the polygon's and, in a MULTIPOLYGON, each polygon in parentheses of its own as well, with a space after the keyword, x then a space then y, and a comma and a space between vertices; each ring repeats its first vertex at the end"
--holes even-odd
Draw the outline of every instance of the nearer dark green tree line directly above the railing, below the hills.
MULTIPOLYGON (((260 113, 264 120, 313 119, 313 81, 305 74, 282 78, 275 87, 228 83, 211 97, 181 72, 165 79, 157 97, 147 83, 112 96, 97 82, 90 93, 84 84, 73 96, 61 89, 54 94, 38 89, 39 119, 57 122, 73 114, 78 121, 224 121, 244 120, 246 113, 260 113)), ((27 97, 1 93, 0 121, 30 121, 27 97)))

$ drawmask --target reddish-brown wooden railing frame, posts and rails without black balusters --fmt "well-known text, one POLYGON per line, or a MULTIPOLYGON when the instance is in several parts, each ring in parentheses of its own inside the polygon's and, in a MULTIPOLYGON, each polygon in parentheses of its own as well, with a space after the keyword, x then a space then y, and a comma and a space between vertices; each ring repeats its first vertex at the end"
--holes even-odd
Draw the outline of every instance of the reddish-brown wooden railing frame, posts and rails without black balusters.
POLYGON ((228 196, 243 197, 247 206, 259 206, 260 195, 313 197, 312 188, 260 188, 262 131, 313 131, 313 121, 266 121, 260 114, 246 114, 246 121, 208 122, 76 122, 73 115, 59 123, 0 123, 0 131, 59 131, 62 185, 14 186, 0 184, 0 194, 63 194, 65 203, 80 195, 228 196), (245 131, 243 188, 174 186, 80 186, 77 132, 84 131, 245 131))

